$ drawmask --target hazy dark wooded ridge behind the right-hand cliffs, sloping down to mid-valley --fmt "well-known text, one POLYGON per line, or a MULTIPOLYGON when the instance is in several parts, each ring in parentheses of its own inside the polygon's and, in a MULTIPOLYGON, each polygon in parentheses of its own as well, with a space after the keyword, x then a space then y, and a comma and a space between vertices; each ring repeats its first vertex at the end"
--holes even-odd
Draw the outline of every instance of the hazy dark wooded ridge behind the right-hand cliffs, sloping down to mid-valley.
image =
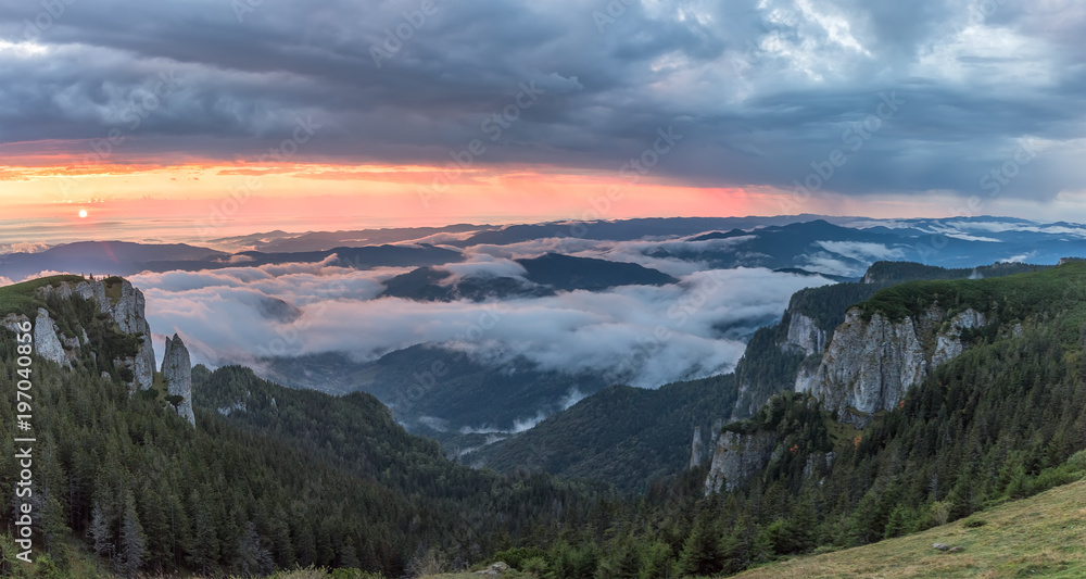
POLYGON ((818 365, 834 328, 853 304, 905 280, 996 277, 1044 266, 997 264, 946 269, 905 262, 876 262, 866 282, 844 282, 796 292, 780 323, 759 328, 747 342, 735 372, 703 380, 667 385, 658 390, 616 387, 559 412, 534 428, 467 457, 469 464, 500 470, 540 469, 564 477, 606 481, 622 490, 644 490, 691 463, 692 444, 700 430, 703 460, 711 456, 714 424, 750 417, 770 397, 790 391, 804 364, 818 365), (870 279, 869 279, 870 278, 870 279), (794 343, 800 317, 821 344, 794 343), (790 332, 792 336, 790 336, 790 332), (804 349, 808 347, 808 350, 804 349))

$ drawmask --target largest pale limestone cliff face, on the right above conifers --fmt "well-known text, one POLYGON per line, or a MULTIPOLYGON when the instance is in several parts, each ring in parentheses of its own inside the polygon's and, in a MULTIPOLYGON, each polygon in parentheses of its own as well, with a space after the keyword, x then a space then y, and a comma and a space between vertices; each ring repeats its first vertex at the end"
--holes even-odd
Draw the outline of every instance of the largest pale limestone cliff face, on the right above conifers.
POLYGON ((931 307, 892 322, 882 314, 863 320, 860 310, 853 309, 834 331, 818 368, 800 372, 796 391, 821 398, 829 411, 853 408, 868 415, 892 410, 936 366, 961 354, 963 329, 985 323, 985 316, 973 310, 947 320, 943 310, 931 307))

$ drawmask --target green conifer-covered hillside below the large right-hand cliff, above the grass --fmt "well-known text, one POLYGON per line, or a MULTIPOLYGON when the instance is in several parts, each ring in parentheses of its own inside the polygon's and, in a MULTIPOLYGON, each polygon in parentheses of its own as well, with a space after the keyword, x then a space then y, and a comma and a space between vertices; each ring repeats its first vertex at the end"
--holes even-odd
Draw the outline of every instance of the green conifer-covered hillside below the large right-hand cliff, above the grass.
POLYGON ((734 452, 760 463, 731 470, 743 478, 728 490, 703 496, 690 479, 697 470, 654 486, 617 509, 608 532, 569 537, 533 565, 553 578, 736 572, 927 529, 1081 478, 1086 264, 913 282, 862 307, 892 315, 934 302, 997 322, 867 429, 837 423, 808 394, 774 397, 724 427, 734 452))

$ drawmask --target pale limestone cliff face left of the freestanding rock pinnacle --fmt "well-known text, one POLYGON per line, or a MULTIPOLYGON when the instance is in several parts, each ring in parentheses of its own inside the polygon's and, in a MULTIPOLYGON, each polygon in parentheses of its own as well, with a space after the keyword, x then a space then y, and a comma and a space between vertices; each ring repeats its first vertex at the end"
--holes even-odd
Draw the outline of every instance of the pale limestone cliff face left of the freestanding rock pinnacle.
MULTIPOLYGON (((151 327, 147 323, 147 317, 144 317, 147 301, 143 298, 143 292, 136 289, 128 280, 121 282, 121 294, 116 298, 115 303, 109 297, 104 280, 80 281, 74 286, 72 284, 60 284, 56 287, 43 286, 38 291, 42 298, 49 294, 54 294, 61 299, 71 299, 73 295, 79 295, 85 300, 93 301, 98 304, 100 312, 110 315, 121 331, 141 335, 143 343, 137 354, 132 357, 114 362, 117 366, 127 367, 132 370, 135 378, 129 386, 139 388, 140 390, 151 388, 151 385, 154 382, 154 345, 151 342, 151 327)), ((38 317, 40 319, 40 314, 38 317)), ((56 336, 55 331, 53 336, 56 336)), ((43 338, 48 340, 48 337, 43 338)), ((41 352, 41 342, 37 339, 37 336, 35 337, 35 341, 38 342, 36 345, 38 353, 46 356, 41 352)), ((85 339, 83 343, 86 343, 85 339)), ((51 347, 52 344, 49 345, 51 347)), ((62 347, 62 350, 67 352, 67 355, 71 355, 78 347, 79 341, 76 339, 62 347)))

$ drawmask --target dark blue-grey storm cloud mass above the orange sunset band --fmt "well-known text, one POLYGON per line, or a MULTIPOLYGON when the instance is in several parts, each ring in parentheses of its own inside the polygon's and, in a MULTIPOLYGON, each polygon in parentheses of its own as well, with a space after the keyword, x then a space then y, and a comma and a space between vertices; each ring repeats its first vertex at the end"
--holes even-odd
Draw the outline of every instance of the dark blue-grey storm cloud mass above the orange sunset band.
POLYGON ((617 171, 672 126, 654 172, 692 185, 792 189, 843 150, 821 189, 974 194, 1026 146, 1000 193, 1045 199, 1084 186, 1084 26, 1058 0, 0 0, 0 142, 101 138, 165 74, 140 152, 253 160, 312 118, 307 160, 480 138, 483 163, 617 171))

